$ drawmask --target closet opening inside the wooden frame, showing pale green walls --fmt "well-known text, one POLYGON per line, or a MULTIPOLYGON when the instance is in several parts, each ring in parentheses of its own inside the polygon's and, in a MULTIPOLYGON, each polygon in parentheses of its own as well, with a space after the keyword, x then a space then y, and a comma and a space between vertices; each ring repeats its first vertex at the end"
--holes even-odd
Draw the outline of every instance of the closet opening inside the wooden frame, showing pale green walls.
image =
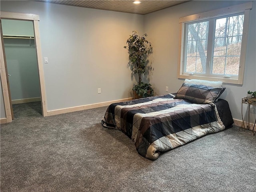
POLYGON ((1 24, 13 118, 20 106, 42 114, 33 22, 1 19, 1 24))

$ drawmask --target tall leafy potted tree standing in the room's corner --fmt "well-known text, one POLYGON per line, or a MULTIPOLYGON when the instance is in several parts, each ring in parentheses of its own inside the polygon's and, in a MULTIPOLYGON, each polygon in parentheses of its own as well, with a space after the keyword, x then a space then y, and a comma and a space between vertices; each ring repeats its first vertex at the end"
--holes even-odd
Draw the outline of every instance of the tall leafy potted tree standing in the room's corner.
POLYGON ((138 32, 134 30, 130 38, 127 39, 124 46, 129 53, 129 65, 134 74, 138 74, 138 84, 133 87, 134 98, 145 98, 154 95, 154 90, 151 84, 142 82, 142 75, 147 74, 147 57, 152 52, 151 43, 146 40, 147 34, 139 36, 138 32), (136 95, 137 94, 137 95, 136 95))

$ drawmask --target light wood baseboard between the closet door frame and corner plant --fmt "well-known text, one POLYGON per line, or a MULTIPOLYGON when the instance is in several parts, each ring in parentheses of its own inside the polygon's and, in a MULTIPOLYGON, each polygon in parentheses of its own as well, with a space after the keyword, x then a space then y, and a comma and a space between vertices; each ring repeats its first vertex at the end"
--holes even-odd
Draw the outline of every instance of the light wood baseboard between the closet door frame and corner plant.
POLYGON ((70 107, 70 108, 64 108, 64 109, 51 110, 51 111, 47 111, 47 116, 70 113, 70 112, 81 111, 81 110, 92 109, 92 108, 98 108, 98 107, 104 107, 104 106, 108 106, 112 103, 118 103, 118 102, 130 101, 130 100, 132 100, 132 98, 126 98, 126 99, 120 99, 120 100, 114 100, 114 101, 107 101, 107 102, 102 102, 102 103, 95 103, 95 104, 89 104, 89 105, 83 105, 83 106, 77 106, 77 107, 70 107))

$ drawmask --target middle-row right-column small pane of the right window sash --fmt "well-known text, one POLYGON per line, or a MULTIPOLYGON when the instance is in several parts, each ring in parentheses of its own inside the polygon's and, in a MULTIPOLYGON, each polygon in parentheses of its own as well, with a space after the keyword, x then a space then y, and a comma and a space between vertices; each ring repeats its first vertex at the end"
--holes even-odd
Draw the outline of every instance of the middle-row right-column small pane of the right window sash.
POLYGON ((241 42, 242 36, 230 37, 228 38, 228 50, 227 55, 240 56, 241 54, 241 42))

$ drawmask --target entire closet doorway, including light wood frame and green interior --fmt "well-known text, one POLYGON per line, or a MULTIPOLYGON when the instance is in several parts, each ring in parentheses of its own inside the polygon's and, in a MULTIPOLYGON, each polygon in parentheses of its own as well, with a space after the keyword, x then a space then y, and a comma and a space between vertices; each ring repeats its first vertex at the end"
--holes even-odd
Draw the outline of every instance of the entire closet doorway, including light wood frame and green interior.
POLYGON ((12 104, 18 103, 41 101, 41 114, 47 116, 38 20, 34 14, 1 12, 1 83, 6 122, 12 122, 12 104))

